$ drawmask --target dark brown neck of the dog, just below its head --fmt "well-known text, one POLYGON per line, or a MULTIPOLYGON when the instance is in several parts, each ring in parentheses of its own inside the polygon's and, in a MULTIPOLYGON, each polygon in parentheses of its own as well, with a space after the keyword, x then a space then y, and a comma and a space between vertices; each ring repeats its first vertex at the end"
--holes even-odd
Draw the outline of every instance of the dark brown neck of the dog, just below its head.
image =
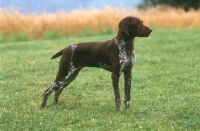
MULTIPOLYGON (((126 43, 126 49, 129 51, 133 51, 134 50, 134 38, 135 37, 130 37, 127 36, 124 32, 122 31, 118 31, 117 33, 117 37, 115 38, 115 42, 120 42, 121 40, 123 40, 126 43)), ((117 44, 116 43, 116 44, 117 44)))

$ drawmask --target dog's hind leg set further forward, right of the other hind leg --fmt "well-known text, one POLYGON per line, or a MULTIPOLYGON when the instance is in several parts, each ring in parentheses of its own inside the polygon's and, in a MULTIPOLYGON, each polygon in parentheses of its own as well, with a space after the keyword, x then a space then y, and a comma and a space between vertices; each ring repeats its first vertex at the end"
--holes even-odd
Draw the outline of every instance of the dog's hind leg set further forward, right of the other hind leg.
POLYGON ((58 103, 58 98, 60 94, 62 93, 63 89, 68 86, 78 75, 79 71, 81 69, 73 69, 69 74, 63 79, 63 84, 60 88, 57 88, 55 90, 55 97, 54 97, 54 103, 58 103))

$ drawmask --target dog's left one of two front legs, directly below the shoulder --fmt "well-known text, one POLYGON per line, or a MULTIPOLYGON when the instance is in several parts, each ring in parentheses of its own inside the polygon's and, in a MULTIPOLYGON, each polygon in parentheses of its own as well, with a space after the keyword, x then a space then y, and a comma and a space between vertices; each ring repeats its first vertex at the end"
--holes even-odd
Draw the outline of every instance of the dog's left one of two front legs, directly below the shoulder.
POLYGON ((112 84, 115 94, 115 105, 117 108, 117 111, 122 111, 121 106, 121 99, 120 99, 120 93, 119 93, 119 73, 112 73, 112 84))

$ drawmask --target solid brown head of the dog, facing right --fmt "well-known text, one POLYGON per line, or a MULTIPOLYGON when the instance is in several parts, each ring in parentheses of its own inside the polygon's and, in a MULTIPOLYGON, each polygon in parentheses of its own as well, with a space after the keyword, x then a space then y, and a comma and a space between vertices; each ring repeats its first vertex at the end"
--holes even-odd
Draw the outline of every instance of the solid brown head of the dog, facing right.
POLYGON ((147 37, 152 32, 152 29, 145 26, 142 20, 133 16, 123 18, 118 27, 129 37, 147 37))

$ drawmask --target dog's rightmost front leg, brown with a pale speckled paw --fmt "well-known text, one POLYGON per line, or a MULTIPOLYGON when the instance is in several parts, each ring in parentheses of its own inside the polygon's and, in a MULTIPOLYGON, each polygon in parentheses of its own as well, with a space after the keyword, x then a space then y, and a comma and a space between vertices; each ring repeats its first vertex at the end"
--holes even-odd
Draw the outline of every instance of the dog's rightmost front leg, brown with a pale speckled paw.
POLYGON ((132 70, 124 71, 124 94, 125 94, 125 107, 130 108, 130 92, 131 92, 132 70))

